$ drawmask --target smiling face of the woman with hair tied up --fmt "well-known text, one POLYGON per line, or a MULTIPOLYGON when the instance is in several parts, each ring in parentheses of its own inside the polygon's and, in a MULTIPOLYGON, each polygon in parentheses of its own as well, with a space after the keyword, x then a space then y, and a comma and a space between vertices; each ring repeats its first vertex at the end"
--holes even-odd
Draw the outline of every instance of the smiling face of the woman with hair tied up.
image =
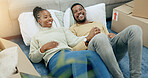
POLYGON ((42 27, 50 28, 53 23, 53 18, 51 14, 49 13, 49 11, 43 10, 39 13, 39 15, 40 15, 40 18, 38 19, 38 23, 40 23, 42 27))

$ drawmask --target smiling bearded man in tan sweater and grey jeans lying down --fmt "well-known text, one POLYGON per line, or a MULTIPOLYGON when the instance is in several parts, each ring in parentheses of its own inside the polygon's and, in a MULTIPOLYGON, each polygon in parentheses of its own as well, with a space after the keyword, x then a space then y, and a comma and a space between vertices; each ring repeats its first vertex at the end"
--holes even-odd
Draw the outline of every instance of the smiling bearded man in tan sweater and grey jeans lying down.
POLYGON ((129 26, 115 35, 108 33, 100 23, 88 22, 86 10, 81 4, 73 4, 71 10, 77 23, 70 30, 77 36, 87 35, 85 42, 82 41, 73 50, 96 51, 114 78, 123 78, 118 62, 128 51, 130 78, 141 78, 142 30, 139 26, 129 26))

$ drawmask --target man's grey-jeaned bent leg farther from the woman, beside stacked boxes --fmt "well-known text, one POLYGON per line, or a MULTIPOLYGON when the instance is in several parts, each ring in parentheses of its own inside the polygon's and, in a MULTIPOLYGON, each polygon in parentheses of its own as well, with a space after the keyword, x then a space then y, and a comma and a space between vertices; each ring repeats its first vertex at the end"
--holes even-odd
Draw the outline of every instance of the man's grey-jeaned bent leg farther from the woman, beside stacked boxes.
POLYGON ((128 51, 130 78, 141 78, 142 30, 139 26, 129 26, 110 39, 113 51, 120 61, 128 51))

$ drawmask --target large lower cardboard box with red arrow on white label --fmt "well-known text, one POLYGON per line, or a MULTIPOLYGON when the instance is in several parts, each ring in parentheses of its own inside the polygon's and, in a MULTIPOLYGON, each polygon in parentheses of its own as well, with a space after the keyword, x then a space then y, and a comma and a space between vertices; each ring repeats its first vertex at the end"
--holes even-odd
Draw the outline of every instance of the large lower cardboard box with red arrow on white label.
POLYGON ((113 9, 111 30, 120 32, 130 25, 139 25, 143 30, 143 44, 148 47, 148 19, 132 16, 133 1, 113 9))

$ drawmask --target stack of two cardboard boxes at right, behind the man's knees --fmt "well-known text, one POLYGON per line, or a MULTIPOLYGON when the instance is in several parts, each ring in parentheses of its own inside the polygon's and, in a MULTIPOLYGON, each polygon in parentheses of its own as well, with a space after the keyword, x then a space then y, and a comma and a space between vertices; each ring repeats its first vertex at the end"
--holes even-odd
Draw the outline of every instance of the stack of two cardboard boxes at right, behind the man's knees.
POLYGON ((130 25, 143 30, 143 44, 148 47, 148 0, 134 0, 113 9, 111 29, 120 32, 130 25))

